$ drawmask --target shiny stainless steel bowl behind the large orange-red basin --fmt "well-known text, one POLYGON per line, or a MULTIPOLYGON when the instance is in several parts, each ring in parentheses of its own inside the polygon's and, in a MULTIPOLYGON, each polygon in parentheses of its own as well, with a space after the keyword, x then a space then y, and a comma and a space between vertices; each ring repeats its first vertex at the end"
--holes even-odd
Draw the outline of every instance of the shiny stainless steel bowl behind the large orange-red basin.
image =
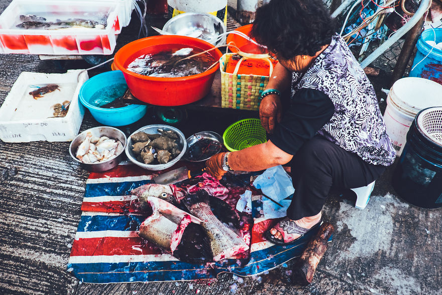
POLYGON ((171 18, 163 27, 174 35, 191 36, 209 42, 212 45, 226 43, 226 36, 217 40, 227 29, 223 21, 206 13, 186 12, 171 18))

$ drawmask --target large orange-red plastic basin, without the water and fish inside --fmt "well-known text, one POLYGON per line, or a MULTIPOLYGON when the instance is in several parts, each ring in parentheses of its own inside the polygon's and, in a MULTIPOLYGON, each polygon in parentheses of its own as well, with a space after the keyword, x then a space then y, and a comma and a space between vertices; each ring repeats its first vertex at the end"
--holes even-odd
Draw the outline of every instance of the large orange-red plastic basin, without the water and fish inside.
MULTIPOLYGON (((178 44, 202 50, 214 47, 196 38, 176 35, 147 37, 126 44, 115 54, 114 62, 117 69, 123 72, 132 94, 140 101, 166 107, 182 106, 202 99, 210 91, 218 66, 197 75, 174 78, 144 76, 127 69, 128 65, 141 55, 157 53, 152 52, 152 46, 165 44, 178 44)), ((207 54, 215 60, 219 60, 223 55, 219 49, 207 54)))

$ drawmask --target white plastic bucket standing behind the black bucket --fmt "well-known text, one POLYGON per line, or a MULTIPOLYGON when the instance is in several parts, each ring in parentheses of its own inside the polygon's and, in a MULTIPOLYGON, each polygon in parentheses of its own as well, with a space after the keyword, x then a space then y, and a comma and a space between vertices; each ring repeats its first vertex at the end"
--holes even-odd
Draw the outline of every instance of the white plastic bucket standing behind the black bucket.
POLYGON ((421 110, 442 106, 442 85, 428 79, 397 80, 387 96, 384 122, 393 147, 400 156, 411 123, 421 110))

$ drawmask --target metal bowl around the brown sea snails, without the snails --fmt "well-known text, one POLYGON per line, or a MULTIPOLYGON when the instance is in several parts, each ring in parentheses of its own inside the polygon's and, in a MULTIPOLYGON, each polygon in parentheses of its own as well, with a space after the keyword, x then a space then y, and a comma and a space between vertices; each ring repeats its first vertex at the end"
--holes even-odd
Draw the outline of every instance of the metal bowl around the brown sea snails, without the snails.
POLYGON ((160 171, 160 170, 164 170, 166 168, 172 167, 176 162, 178 162, 182 158, 182 156, 184 156, 184 153, 186 152, 187 143, 186 143, 184 134, 179 129, 172 127, 172 126, 161 125, 161 124, 148 125, 148 126, 141 127, 140 129, 138 129, 137 131, 132 133, 131 136, 129 136, 129 138, 128 138, 128 144, 126 146, 126 155, 128 156, 129 160, 131 160, 131 162, 133 162, 134 164, 136 164, 144 169, 147 169, 147 170, 160 171), (177 144, 178 144, 178 147, 181 149, 181 153, 175 159, 173 159, 170 162, 167 162, 166 164, 151 165, 151 164, 145 164, 145 163, 139 162, 137 160, 137 156, 132 151, 132 145, 134 143, 132 142, 131 136, 137 132, 140 132, 140 131, 143 131, 143 132, 149 133, 149 134, 158 133, 158 129, 163 129, 164 131, 172 130, 172 131, 175 131, 179 135, 180 138, 179 138, 179 141, 177 142, 177 144))

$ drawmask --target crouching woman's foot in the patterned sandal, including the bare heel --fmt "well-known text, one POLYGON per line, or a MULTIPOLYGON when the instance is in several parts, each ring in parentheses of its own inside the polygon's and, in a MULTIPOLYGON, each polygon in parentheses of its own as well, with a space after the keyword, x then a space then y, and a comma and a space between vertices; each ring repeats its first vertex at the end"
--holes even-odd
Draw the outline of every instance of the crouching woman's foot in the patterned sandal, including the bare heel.
POLYGON ((281 220, 275 227, 270 229, 270 234, 274 239, 280 240, 282 243, 290 243, 302 234, 319 223, 322 213, 319 212, 315 216, 304 217, 299 220, 284 219, 281 220))

